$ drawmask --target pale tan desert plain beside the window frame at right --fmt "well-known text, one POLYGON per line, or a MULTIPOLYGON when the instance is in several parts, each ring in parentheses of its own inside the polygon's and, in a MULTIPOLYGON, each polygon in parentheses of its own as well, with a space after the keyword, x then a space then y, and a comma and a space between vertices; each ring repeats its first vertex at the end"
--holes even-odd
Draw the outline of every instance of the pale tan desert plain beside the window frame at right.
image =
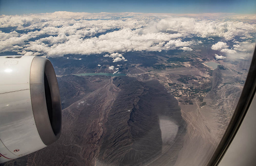
POLYGON ((212 72, 212 89, 204 98, 204 104, 195 98, 193 105, 180 105, 188 125, 175 166, 207 165, 233 115, 245 75, 219 66, 212 72))

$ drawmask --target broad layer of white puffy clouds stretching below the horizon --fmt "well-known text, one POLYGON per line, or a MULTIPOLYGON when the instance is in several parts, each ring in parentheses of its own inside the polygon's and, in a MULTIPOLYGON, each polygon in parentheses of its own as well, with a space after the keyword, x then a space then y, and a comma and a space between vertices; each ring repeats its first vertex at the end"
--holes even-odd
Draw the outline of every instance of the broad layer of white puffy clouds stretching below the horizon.
MULTIPOLYGON (((2 15, 0 28, 16 28, 10 33, 0 31, 0 52, 26 51, 27 55, 48 57, 109 53, 106 57, 118 62, 126 61, 120 53, 173 49, 192 51, 193 45, 202 44, 202 41, 188 41, 186 38, 220 37, 226 42, 234 38, 241 41, 252 38, 256 30, 255 23, 234 20, 238 16, 228 20, 220 19, 220 14, 202 14, 207 19, 187 16, 189 18, 169 14, 85 12, 2 15)), ((218 42, 212 45, 212 49, 226 53, 247 50, 242 44, 240 48, 227 50, 226 42, 218 42)), ((239 44, 238 41, 234 43, 239 44)))

